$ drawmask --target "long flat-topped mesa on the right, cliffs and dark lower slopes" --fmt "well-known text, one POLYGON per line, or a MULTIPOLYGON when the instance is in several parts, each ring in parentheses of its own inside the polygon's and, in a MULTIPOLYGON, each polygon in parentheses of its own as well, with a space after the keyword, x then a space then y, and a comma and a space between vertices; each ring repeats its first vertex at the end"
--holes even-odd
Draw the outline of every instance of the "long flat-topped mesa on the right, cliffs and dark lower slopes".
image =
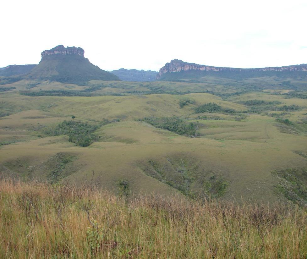
POLYGON ((258 76, 290 76, 306 77, 307 64, 292 65, 284 67, 266 67, 255 69, 214 67, 184 62, 180 59, 173 59, 162 67, 157 80, 172 80, 184 78, 199 78, 204 76, 217 76, 232 79, 243 79, 258 76), (178 73, 180 72, 180 73, 178 73), (212 73, 213 72, 213 73, 212 73), (278 72, 278 73, 277 73, 278 72), (280 73, 282 72, 282 73, 280 73), (302 73, 303 72, 303 73, 302 73))

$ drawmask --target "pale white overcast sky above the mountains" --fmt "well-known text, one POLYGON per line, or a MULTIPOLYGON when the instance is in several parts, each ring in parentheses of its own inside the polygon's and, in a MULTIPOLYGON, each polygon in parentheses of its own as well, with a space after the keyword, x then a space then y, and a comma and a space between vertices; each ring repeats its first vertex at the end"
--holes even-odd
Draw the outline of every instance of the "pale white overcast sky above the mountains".
POLYGON ((0 67, 57 45, 101 69, 156 70, 174 58, 221 67, 307 63, 307 1, 3 1, 0 67))

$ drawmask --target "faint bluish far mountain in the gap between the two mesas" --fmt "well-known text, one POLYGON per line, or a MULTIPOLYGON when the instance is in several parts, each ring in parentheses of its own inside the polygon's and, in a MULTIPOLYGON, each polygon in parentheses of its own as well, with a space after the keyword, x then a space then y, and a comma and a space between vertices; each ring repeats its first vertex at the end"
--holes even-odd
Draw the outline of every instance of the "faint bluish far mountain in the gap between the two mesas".
POLYGON ((135 82, 150 82, 155 81, 158 76, 157 71, 145 71, 145 70, 136 70, 136 69, 118 69, 111 71, 112 74, 115 74, 123 81, 135 81, 135 82))

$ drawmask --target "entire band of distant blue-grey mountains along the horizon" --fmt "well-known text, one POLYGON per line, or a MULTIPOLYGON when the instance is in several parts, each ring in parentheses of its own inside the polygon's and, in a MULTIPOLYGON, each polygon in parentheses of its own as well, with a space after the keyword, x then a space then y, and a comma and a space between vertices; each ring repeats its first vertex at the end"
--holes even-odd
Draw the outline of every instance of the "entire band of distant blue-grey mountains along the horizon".
POLYGON ((38 65, 10 65, 0 68, 0 85, 19 80, 57 81, 85 85, 90 80, 105 81, 183 81, 236 85, 248 88, 292 86, 293 89, 307 88, 307 64, 283 67, 241 69, 214 67, 173 59, 163 66, 159 73, 136 69, 118 69, 111 72, 100 69, 84 57, 80 47, 58 45, 41 52, 38 65), (261 78, 261 82, 260 79, 261 78), (249 79, 249 82, 244 80, 249 79), (252 80, 251 80, 252 79, 252 80), (221 81, 222 80, 222 81, 221 81), (235 82, 230 82, 233 80, 235 82), (295 84, 292 82, 295 81, 295 84), (302 81, 302 82, 299 82, 302 81), (304 82, 303 82, 304 81, 304 82), (290 82, 290 83, 289 83, 290 82), (292 85, 291 85, 292 84, 292 85))

